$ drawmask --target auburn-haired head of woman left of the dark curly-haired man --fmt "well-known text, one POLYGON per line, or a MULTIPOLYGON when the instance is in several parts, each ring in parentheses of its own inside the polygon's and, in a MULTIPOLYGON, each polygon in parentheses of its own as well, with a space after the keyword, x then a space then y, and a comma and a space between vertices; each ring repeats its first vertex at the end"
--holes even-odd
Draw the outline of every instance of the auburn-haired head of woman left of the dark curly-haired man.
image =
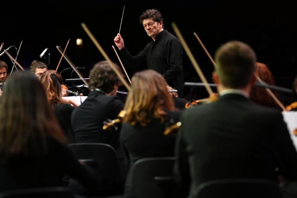
POLYGON ((55 70, 46 70, 42 74, 40 80, 45 88, 45 93, 50 104, 64 102, 61 98, 61 85, 63 84, 61 74, 55 70))

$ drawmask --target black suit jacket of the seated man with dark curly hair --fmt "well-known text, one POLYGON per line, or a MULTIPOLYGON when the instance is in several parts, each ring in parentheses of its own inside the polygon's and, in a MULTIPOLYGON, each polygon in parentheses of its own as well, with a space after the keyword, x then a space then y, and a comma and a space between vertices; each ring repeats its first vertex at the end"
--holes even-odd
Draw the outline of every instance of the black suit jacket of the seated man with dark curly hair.
POLYGON ((116 119, 123 108, 124 103, 116 96, 91 91, 88 98, 72 112, 75 142, 98 142, 119 148, 119 130, 103 130, 102 127, 104 121, 116 119))

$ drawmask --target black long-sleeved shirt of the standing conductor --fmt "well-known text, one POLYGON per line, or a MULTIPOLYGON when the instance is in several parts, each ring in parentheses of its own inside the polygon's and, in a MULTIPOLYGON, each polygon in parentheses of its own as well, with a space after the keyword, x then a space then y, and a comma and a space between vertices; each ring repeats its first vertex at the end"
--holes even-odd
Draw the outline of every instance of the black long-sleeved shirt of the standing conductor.
POLYGON ((125 47, 119 54, 128 67, 146 64, 148 69, 162 74, 167 84, 178 90, 179 97, 183 97, 183 50, 178 38, 173 34, 167 30, 161 31, 156 40, 147 44, 136 56, 131 56, 125 47))

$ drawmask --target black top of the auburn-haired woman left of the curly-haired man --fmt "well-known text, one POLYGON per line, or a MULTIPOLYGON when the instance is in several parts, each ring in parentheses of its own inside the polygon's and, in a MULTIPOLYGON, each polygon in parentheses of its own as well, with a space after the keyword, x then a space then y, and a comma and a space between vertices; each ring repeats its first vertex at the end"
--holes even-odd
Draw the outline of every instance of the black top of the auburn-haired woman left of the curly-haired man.
POLYGON ((53 104, 53 108, 62 130, 67 136, 68 143, 74 143, 74 136, 71 128, 71 114, 75 107, 70 104, 60 103, 53 104))

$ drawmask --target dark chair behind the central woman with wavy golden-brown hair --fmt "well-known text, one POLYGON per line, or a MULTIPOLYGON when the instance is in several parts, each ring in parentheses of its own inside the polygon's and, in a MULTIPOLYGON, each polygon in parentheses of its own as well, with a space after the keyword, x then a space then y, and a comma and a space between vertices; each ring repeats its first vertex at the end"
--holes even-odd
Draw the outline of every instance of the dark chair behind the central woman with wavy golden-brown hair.
POLYGON ((141 198, 173 198, 175 157, 150 157, 137 160, 131 167, 132 192, 141 198))

